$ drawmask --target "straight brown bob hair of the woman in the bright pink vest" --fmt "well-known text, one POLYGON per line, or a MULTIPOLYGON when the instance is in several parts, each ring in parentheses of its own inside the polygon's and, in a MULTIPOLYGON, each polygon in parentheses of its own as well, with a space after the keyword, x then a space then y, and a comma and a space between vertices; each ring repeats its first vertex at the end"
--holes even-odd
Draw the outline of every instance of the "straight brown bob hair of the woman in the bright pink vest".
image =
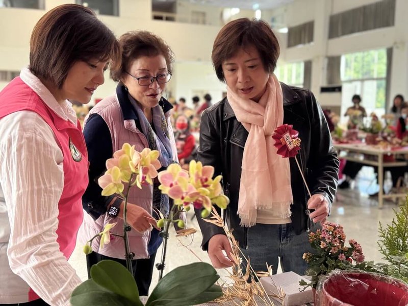
POLYGON ((30 41, 30 70, 59 89, 77 61, 112 59, 118 63, 120 45, 95 13, 82 5, 64 4, 37 22, 30 41))

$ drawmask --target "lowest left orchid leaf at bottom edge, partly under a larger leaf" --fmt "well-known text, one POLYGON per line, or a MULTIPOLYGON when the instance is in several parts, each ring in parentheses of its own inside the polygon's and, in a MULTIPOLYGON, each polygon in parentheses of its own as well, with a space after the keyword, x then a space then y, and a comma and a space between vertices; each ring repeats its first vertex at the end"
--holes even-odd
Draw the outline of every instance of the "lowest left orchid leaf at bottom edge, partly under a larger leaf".
POLYGON ((134 303, 116 293, 97 285, 93 279, 88 279, 71 294, 72 306, 133 306, 134 303))

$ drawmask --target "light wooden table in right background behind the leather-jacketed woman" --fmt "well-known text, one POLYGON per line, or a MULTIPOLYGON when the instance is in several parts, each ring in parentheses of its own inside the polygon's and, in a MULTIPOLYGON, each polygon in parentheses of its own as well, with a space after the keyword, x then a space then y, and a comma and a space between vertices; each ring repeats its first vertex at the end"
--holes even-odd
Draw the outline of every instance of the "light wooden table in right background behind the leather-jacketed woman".
POLYGON ((366 145, 364 143, 353 143, 353 144, 334 144, 334 147, 339 152, 339 158, 344 158, 347 161, 357 162, 364 165, 371 165, 378 167, 378 208, 382 208, 384 205, 385 198, 404 198, 406 196, 405 193, 393 193, 393 194, 384 194, 384 190, 382 186, 384 184, 384 167, 401 167, 401 166, 408 166, 408 161, 395 161, 395 162, 384 162, 384 156, 390 155, 406 155, 408 154, 408 147, 400 147, 400 148, 392 148, 392 149, 381 149, 374 145, 366 145), (344 151, 347 152, 347 155, 340 156, 340 152, 344 151), (358 158, 352 156, 352 154, 363 154, 374 156, 375 160, 370 160, 367 158, 358 158))

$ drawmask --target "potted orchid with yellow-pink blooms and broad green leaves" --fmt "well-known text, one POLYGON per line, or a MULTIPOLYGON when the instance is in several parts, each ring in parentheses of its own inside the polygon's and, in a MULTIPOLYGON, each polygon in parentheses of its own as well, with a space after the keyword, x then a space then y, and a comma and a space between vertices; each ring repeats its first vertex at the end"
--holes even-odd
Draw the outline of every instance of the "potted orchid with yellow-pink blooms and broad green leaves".
MULTIPOLYGON (((153 184, 158 177, 161 185, 159 189, 174 199, 169 215, 157 221, 159 227, 164 227, 160 233, 164 238, 161 263, 157 265, 160 271, 159 283, 150 294, 145 305, 192 305, 214 300, 222 296, 222 289, 215 282, 219 275, 207 263, 193 263, 178 267, 163 277, 166 245, 169 225, 176 222, 179 227, 185 227, 182 220, 175 216, 183 211, 194 208, 202 209, 203 217, 209 216, 212 203, 220 208, 226 208, 229 199, 222 194, 221 175, 212 179, 214 168, 202 166, 200 162, 192 161, 189 171, 181 169, 178 164, 171 164, 167 170, 158 173, 161 164, 158 160, 159 152, 144 148, 141 152, 135 146, 124 143, 116 151, 113 158, 106 161, 107 171, 98 179, 103 188, 102 195, 118 194, 124 198, 123 236, 125 245, 126 268, 114 261, 101 261, 92 266, 91 278, 75 288, 71 295, 71 304, 90 305, 100 301, 110 301, 115 305, 142 305, 137 285, 133 277, 131 260, 134 254, 129 251, 127 232, 132 228, 126 223, 127 197, 132 187, 142 188, 143 185, 153 184), (183 290, 180 290, 183 288, 183 290)), ((159 212, 160 213, 160 212, 159 212)), ((101 233, 95 235, 84 247, 84 252, 92 251, 93 239, 100 236, 100 247, 110 242, 110 230, 116 223, 107 224, 101 233)))

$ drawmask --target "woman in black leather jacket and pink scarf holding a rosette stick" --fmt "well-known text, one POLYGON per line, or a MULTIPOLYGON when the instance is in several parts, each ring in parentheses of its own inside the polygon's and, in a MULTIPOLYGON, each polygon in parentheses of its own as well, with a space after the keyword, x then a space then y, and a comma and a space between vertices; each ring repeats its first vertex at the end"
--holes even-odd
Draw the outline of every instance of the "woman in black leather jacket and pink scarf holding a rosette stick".
MULTIPOLYGON (((223 175, 231 200, 224 219, 254 270, 265 270, 267 262, 276 273, 280 258, 284 272, 304 274, 302 254, 311 251, 308 232, 329 214, 339 160, 314 95, 277 82, 273 71, 278 56, 278 41, 264 21, 241 18, 221 29, 212 61, 218 79, 227 85, 227 97, 202 114, 198 160, 223 175), (299 131, 297 158, 311 198, 294 159, 279 159, 272 148, 271 135, 284 123, 299 131)), ((222 228, 197 219, 202 248, 214 267, 232 266, 222 228)))

